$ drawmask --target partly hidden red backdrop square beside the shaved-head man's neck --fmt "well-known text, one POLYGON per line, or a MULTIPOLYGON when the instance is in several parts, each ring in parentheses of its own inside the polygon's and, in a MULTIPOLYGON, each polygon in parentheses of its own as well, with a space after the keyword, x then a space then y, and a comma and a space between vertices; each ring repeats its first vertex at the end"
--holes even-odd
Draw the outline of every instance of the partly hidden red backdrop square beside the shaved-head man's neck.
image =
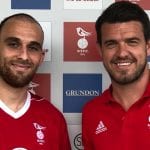
POLYGON ((31 93, 50 100, 50 74, 36 74, 28 88, 31 93))

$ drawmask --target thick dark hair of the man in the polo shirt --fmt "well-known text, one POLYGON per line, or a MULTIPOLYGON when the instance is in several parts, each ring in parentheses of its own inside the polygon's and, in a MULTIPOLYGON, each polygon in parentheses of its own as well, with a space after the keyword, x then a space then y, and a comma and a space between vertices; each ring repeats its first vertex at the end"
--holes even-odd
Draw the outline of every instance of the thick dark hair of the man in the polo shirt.
POLYGON ((96 20, 95 28, 97 42, 102 44, 101 28, 104 23, 122 23, 138 21, 143 27, 144 38, 150 39, 150 21, 146 12, 137 4, 128 1, 119 1, 111 4, 96 20))

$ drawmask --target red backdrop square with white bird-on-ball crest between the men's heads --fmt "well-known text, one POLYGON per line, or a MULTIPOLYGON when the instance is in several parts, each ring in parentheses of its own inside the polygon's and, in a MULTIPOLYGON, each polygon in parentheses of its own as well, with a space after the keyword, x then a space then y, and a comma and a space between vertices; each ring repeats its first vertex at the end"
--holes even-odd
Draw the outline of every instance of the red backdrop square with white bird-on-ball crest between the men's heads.
POLYGON ((64 61, 100 61, 93 22, 64 23, 64 61))

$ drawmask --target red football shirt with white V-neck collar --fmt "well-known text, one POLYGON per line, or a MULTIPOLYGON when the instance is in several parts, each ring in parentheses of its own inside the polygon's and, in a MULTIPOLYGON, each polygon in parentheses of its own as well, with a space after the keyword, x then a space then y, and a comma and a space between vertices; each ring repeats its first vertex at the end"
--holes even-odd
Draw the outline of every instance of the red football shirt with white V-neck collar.
POLYGON ((0 101, 0 150, 71 150, 63 115, 29 93, 16 113, 0 101))

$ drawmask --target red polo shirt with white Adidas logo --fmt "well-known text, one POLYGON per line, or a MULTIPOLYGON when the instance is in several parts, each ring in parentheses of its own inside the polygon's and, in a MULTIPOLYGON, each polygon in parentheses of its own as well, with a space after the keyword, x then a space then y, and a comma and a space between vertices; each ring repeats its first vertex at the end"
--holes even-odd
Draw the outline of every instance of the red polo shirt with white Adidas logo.
POLYGON ((111 88, 87 103, 82 134, 84 150, 150 150, 150 84, 128 111, 113 100, 111 88))

